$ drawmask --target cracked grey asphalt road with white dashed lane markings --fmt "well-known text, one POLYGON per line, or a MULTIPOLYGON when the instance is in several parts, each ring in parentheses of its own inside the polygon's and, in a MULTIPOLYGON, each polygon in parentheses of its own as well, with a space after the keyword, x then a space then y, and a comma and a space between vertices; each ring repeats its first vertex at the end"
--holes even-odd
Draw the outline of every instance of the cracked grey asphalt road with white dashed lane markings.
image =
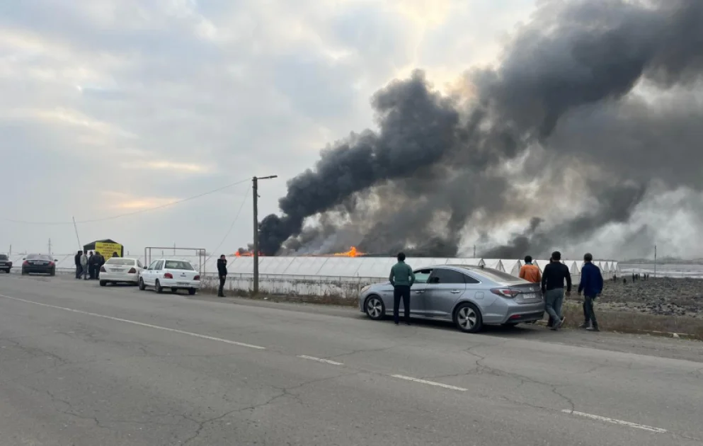
POLYGON ((0 275, 0 445, 700 445, 701 347, 0 275))

